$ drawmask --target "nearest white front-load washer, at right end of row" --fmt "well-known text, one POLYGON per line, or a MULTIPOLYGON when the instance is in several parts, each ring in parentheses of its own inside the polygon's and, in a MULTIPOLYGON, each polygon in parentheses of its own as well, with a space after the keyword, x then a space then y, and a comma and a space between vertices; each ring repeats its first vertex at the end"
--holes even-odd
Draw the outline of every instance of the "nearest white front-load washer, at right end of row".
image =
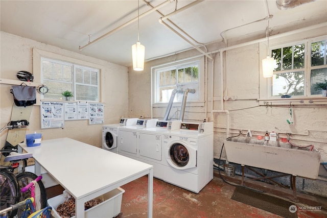
POLYGON ((163 135, 164 180, 198 193, 213 179, 213 123, 181 123, 163 135))

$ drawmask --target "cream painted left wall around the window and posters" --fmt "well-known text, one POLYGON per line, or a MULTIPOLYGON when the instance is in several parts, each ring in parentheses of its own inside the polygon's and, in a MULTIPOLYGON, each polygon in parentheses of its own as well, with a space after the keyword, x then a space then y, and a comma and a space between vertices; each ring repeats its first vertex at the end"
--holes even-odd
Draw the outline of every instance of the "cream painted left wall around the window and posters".
MULTIPOLYGON (((88 57, 59 47, 47 45, 27 38, 22 38, 5 32, 1 32, 1 79, 17 80, 16 73, 20 70, 33 72, 32 50, 33 48, 56 53, 59 55, 92 62, 102 66, 102 81, 104 90, 102 101, 105 103, 105 124, 119 123, 121 117, 128 116, 128 69, 127 67, 113 64, 104 60, 88 57)), ((35 75, 36 76, 36 75, 35 75)), ((36 76, 39 78, 39 75, 36 76)), ((40 82, 34 80, 34 82, 40 82)), ((10 121, 13 104, 12 94, 9 92, 11 85, 1 84, 1 127, 10 121)), ((70 137, 97 147, 102 146, 102 125, 88 125, 88 120, 65 121, 64 129, 40 129, 40 106, 32 106, 30 126, 27 134, 42 133, 43 140, 70 137)), ((7 131, 1 134, 1 147, 7 137, 7 131)))

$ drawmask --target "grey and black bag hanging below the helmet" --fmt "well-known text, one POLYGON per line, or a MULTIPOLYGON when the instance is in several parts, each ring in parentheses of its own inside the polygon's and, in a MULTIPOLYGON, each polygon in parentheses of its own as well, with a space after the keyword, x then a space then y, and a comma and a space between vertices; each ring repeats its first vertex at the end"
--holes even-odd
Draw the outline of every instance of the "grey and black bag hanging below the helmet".
MULTIPOLYGON (((25 84, 25 83, 22 83, 25 84)), ((20 86, 11 86, 10 93, 14 95, 15 105, 26 107, 36 103, 36 87, 20 84, 20 86)))

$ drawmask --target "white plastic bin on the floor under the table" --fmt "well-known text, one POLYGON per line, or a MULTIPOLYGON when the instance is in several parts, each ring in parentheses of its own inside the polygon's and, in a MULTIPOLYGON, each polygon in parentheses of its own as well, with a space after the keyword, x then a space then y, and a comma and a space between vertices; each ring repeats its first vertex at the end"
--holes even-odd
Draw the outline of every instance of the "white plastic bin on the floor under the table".
MULTIPOLYGON (((94 218, 94 217, 115 217, 121 212, 123 193, 125 192, 122 188, 116 188, 112 191, 105 193, 99 198, 103 198, 103 202, 100 204, 85 210, 86 218, 94 218)), ((65 198, 63 195, 59 195, 53 197, 48 200, 49 206, 52 206, 53 212, 52 215, 56 218, 60 218, 61 216, 57 213, 56 208, 59 204, 65 202, 65 198)), ((75 217, 75 216, 73 216, 75 217)), ((73 218, 72 217, 72 218, 73 218)))

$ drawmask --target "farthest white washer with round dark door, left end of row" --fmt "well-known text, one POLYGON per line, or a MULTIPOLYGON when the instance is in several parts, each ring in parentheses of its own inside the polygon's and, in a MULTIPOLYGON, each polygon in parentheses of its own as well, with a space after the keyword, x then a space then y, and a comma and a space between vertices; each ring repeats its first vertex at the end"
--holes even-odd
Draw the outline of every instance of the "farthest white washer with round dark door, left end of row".
POLYGON ((119 124, 102 126, 102 149, 118 153, 118 128, 135 125, 137 118, 121 118, 119 124))

